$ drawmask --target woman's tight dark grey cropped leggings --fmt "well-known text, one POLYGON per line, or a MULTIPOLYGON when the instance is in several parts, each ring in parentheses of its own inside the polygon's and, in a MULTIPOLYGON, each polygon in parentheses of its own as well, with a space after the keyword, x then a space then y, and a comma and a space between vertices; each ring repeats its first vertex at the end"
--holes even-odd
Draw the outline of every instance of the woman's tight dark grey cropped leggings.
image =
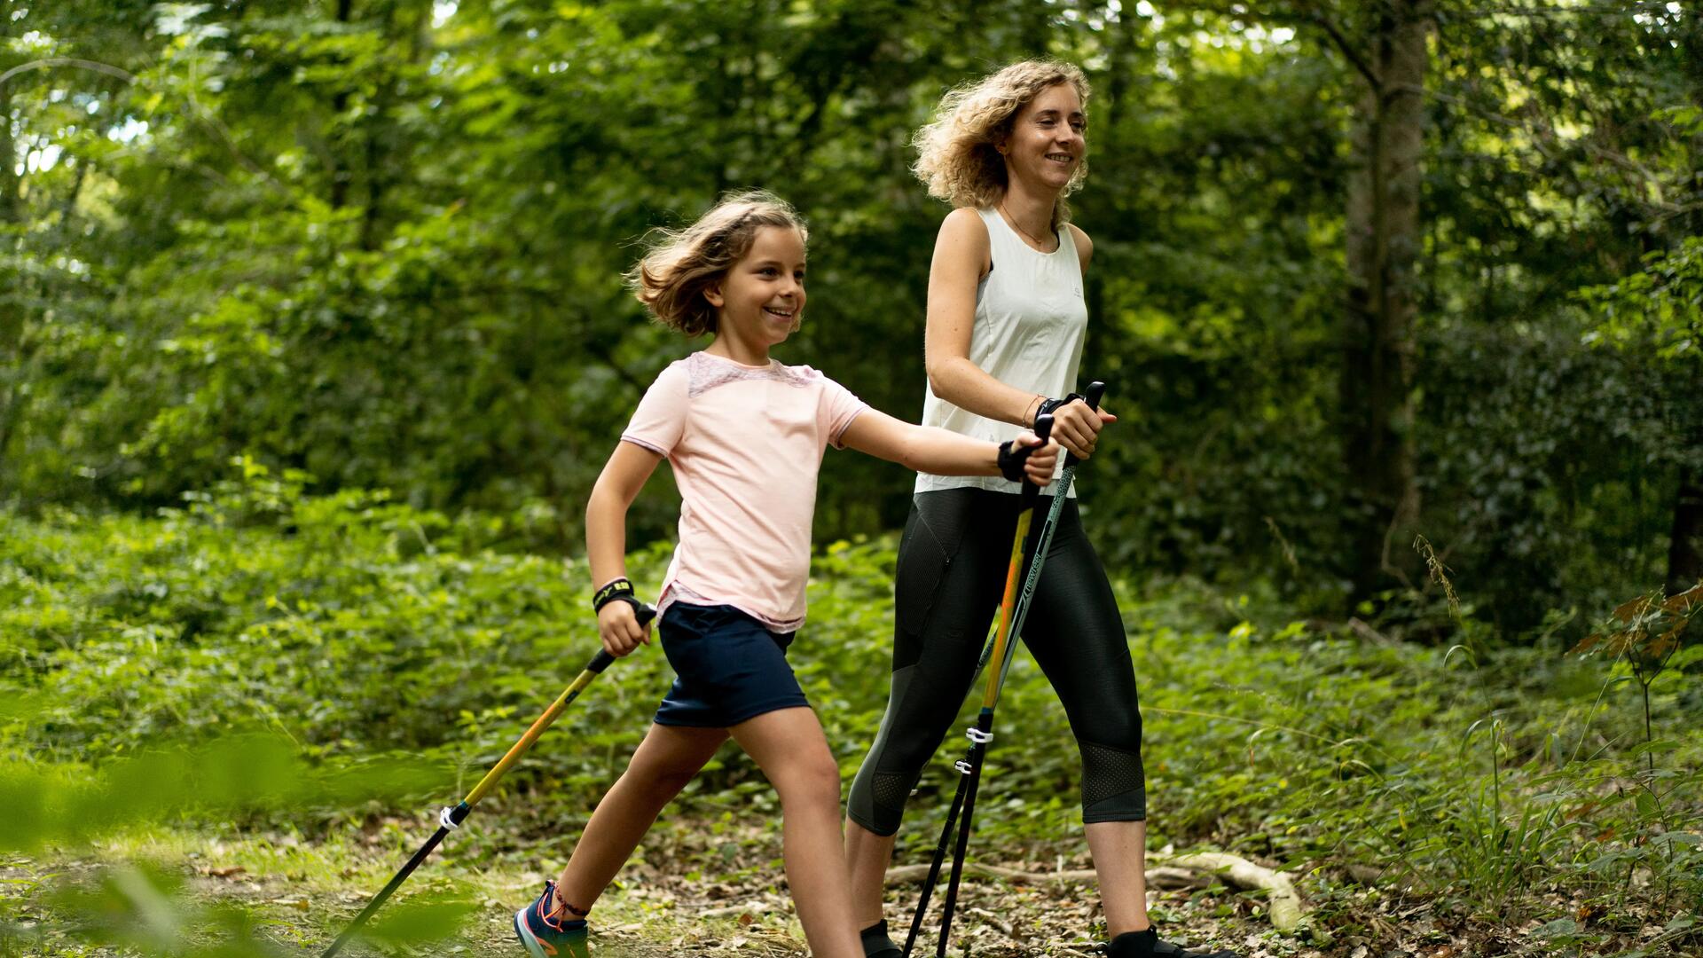
MULTIPOLYGON (((913 499, 894 583, 892 690, 846 808, 877 835, 899 830, 906 798, 969 692, 1005 588, 1017 501, 1015 493, 988 489, 913 499)), ((1041 499, 1034 534, 1049 505, 1041 499)), ((1022 638, 1076 735, 1081 820, 1144 820, 1136 673, 1112 585, 1075 501, 1059 515, 1022 638)))

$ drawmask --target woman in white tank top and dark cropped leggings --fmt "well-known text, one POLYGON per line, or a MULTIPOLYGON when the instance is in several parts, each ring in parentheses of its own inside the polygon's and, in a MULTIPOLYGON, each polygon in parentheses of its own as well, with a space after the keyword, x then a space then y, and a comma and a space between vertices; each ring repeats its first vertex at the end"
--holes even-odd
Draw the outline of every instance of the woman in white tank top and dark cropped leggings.
MULTIPOLYGON (((952 203, 928 276, 923 423, 976 438, 1032 426, 1090 459, 1117 418, 1068 395, 1093 244, 1068 223, 1087 172, 1088 84, 1054 61, 1013 63, 947 94, 916 135, 915 172, 952 203)), ((1092 474, 1092 472, 1090 472, 1092 474)), ((1071 491, 1075 496, 1075 489, 1071 491)), ((897 958, 882 878, 904 801, 969 689, 1003 586, 1018 486, 918 474, 899 544, 892 690, 852 784, 846 857, 863 951, 897 958)), ((1235 958, 1163 943, 1146 912, 1146 791, 1136 678, 1112 586, 1066 503, 1024 627, 1059 694, 1083 767, 1083 822, 1114 958, 1235 958)))

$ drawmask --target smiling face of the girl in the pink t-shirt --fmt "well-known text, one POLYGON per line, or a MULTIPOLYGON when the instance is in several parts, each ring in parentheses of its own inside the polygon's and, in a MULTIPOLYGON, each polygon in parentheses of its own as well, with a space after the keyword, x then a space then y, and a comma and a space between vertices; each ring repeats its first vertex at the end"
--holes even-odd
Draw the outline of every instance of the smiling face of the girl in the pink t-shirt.
POLYGON ((760 227, 751 249, 703 298, 717 312, 717 339, 768 356, 804 314, 804 237, 790 227, 760 227))

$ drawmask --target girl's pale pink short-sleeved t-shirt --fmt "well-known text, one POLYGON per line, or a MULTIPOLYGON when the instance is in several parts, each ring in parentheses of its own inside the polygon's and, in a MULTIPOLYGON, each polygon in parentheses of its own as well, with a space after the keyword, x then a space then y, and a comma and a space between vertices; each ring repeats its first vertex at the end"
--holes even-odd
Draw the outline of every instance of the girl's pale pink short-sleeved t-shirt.
POLYGON ((869 406, 811 366, 710 353, 669 363, 622 440, 668 457, 679 544, 659 609, 732 605, 777 632, 804 624, 816 472, 869 406))

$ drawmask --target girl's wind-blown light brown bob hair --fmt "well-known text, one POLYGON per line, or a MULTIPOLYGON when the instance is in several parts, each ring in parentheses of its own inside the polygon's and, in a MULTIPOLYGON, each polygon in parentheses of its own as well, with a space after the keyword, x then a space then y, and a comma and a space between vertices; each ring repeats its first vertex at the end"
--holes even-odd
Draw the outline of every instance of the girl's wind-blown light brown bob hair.
POLYGON ((715 307, 703 291, 751 252, 763 227, 787 227, 811 239, 804 218, 773 193, 729 193, 683 230, 652 230, 651 249, 627 271, 627 283, 662 326, 686 336, 715 332, 715 307))

